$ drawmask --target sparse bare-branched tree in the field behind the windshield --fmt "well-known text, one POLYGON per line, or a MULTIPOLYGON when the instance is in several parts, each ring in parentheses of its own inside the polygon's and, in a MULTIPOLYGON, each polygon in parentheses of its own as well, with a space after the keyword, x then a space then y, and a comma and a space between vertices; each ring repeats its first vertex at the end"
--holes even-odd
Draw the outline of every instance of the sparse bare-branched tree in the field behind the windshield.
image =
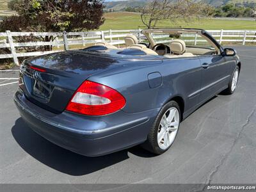
POLYGON ((147 28, 154 28, 159 20, 169 19, 176 22, 183 19, 189 22, 200 16, 209 16, 214 13, 211 6, 204 3, 193 3, 190 0, 154 0, 140 9, 141 21, 147 28))

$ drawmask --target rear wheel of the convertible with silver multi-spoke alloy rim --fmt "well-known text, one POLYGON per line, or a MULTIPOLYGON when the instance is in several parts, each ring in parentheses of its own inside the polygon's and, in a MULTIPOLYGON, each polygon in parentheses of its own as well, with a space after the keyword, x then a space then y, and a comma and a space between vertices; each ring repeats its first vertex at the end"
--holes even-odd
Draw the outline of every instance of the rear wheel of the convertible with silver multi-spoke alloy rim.
POLYGON ((154 154, 163 154, 173 144, 180 124, 180 108, 175 101, 163 106, 142 147, 154 154))

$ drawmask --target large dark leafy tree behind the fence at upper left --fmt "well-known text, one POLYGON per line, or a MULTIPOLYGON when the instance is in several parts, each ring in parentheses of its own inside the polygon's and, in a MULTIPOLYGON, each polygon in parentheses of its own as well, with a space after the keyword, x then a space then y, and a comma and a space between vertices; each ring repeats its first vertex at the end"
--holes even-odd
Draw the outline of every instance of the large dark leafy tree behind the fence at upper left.
MULTIPOLYGON (((104 23, 102 0, 13 0, 9 6, 18 15, 5 17, 0 31, 87 31, 104 23)), ((53 36, 41 38, 54 40, 53 36)))

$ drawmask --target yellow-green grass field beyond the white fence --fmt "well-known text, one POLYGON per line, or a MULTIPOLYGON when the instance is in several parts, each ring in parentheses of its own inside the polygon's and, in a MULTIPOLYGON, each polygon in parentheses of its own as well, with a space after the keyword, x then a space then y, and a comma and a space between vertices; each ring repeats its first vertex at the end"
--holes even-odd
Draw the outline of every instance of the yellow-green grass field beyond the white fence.
MULTIPOLYGON (((140 19, 139 13, 129 12, 112 12, 104 15, 106 21, 100 30, 108 29, 138 29, 145 28, 140 19)), ((170 20, 163 20, 157 26, 164 27, 182 27, 182 28, 202 28, 202 29, 254 29, 256 30, 256 21, 251 20, 215 20, 215 19, 200 19, 194 20, 189 24, 180 20, 176 24, 170 20)))

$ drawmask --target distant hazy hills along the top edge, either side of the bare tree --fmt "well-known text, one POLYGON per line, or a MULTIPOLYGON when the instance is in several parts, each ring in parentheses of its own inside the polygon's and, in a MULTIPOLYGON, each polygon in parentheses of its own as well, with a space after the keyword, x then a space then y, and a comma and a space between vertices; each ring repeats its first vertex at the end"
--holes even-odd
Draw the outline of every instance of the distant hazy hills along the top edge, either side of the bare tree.
MULTIPOLYGON (((115 10, 115 11, 122 11, 127 7, 138 8, 140 6, 145 6, 148 2, 152 0, 106 0, 104 4, 106 5, 106 10, 115 10)), ((246 5, 249 3, 255 3, 256 0, 192 0, 194 2, 204 1, 207 4, 211 4, 212 6, 221 6, 228 3, 239 3, 241 5, 246 5)))

